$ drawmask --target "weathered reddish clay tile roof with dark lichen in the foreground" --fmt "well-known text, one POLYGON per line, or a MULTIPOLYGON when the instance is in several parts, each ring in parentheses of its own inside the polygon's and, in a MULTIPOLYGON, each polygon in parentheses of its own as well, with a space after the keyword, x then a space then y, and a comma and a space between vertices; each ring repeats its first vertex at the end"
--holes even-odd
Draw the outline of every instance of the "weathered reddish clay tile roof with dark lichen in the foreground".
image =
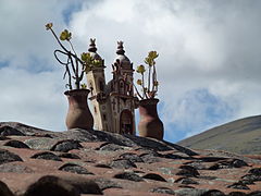
POLYGON ((261 195, 261 161, 100 131, 0 123, 0 196, 261 195))

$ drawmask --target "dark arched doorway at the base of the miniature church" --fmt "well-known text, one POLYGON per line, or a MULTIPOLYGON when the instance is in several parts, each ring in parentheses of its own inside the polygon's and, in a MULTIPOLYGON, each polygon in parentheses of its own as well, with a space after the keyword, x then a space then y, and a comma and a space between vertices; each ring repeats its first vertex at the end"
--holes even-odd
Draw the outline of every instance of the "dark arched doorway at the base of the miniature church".
POLYGON ((133 114, 129 110, 123 110, 120 117, 120 134, 133 135, 133 114))

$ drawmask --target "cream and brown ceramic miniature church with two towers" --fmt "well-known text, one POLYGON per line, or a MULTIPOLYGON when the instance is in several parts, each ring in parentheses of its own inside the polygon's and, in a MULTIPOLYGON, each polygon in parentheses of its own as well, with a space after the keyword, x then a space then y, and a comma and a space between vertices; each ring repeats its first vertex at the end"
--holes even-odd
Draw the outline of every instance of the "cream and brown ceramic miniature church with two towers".
POLYGON ((133 63, 125 56, 123 41, 117 42, 116 58, 112 64, 112 79, 105 82, 104 60, 97 53, 95 39, 90 39, 88 49, 100 66, 87 73, 90 89, 89 100, 94 107, 95 128, 120 134, 135 135, 136 99, 133 88, 133 63))

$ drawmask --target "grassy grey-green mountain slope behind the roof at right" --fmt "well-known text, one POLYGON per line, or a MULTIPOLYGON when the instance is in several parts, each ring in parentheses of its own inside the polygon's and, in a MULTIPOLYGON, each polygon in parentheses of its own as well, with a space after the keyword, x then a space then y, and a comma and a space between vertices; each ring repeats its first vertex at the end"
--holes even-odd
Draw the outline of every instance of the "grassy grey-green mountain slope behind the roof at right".
POLYGON ((261 155, 261 115, 216 126, 177 144, 194 149, 217 149, 244 155, 261 155))

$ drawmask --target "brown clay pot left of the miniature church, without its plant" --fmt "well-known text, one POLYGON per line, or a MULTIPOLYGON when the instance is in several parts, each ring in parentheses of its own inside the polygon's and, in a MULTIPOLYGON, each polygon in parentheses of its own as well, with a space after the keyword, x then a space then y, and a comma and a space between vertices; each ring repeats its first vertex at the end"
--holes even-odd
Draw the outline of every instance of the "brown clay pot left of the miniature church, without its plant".
POLYGON ((89 91, 88 89, 73 89, 64 93, 69 99, 69 111, 65 120, 67 130, 92 128, 94 118, 87 103, 89 91))

